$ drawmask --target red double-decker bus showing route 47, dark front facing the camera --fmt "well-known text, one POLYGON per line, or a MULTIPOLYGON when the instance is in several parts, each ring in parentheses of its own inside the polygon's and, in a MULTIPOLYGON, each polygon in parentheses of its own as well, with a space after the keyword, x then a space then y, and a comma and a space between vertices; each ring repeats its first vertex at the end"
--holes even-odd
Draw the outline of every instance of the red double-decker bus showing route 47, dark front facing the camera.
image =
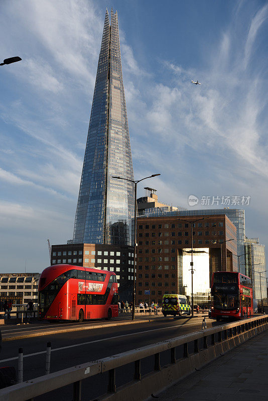
POLYGON ((212 276, 211 317, 243 319, 253 316, 251 279, 238 272, 215 272, 212 276))

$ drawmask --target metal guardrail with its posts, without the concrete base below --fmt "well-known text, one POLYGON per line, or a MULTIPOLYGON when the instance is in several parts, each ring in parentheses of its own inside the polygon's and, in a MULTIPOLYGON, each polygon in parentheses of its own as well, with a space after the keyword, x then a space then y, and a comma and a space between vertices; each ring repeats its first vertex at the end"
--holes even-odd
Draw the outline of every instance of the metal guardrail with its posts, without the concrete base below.
MULTIPOLYGON (((189 343, 193 343, 193 354, 198 354, 199 340, 203 339, 204 349, 209 349, 215 344, 220 344, 224 340, 235 336, 243 335, 248 331, 257 329, 260 326, 268 324, 268 317, 253 317, 241 320, 239 322, 224 324, 214 328, 202 330, 192 334, 186 334, 179 337, 161 341, 149 346, 126 351, 117 355, 109 356, 95 362, 88 362, 79 366, 73 366, 68 369, 50 373, 23 383, 15 384, 0 390, 0 401, 33 401, 34 397, 48 393, 49 391, 73 384, 73 401, 81 401, 82 380, 87 377, 108 372, 108 393, 116 392, 115 369, 128 363, 135 365, 134 380, 141 380, 141 360, 154 356, 154 366, 152 371, 160 371, 160 354, 163 351, 170 350, 170 363, 176 364, 176 347, 183 346, 183 358, 189 358, 189 343), (208 344, 210 339, 210 345, 208 344)), ((257 331, 257 330, 255 330, 257 331)), ((193 355, 192 354, 192 355, 193 355)), ((180 359, 181 360, 181 359, 180 359)))

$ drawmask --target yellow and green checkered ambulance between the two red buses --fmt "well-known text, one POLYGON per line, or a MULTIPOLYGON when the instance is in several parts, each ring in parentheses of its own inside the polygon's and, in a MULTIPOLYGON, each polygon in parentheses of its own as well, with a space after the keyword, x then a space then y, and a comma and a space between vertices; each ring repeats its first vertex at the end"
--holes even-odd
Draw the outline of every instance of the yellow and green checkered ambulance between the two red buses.
POLYGON ((165 294, 162 300, 162 313, 164 316, 190 315, 191 308, 185 295, 165 294))

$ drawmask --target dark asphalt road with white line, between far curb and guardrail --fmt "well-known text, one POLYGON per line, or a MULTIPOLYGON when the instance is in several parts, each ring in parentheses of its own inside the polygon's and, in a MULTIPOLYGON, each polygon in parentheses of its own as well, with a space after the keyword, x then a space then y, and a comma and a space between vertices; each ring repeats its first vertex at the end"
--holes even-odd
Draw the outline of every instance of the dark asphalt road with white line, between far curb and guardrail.
MULTIPOLYGON (((76 324, 76 323, 67 323, 76 324)), ((89 322, 85 322, 90 324, 89 322)), ((92 324, 92 323, 91 323, 92 324)), ((217 325, 214 320, 208 320, 207 327, 217 325)), ((221 323, 222 324, 222 323, 221 323)), ((58 324, 59 325, 59 324, 58 324)), ((78 325, 78 323, 77 323, 78 325)), ((57 325, 52 325, 57 326, 57 325)), ((50 326, 51 327, 51 326, 50 326)), ((202 328, 202 317, 183 317, 174 320, 171 317, 159 317, 149 322, 129 324, 124 326, 103 327, 90 330, 74 331, 68 333, 50 334, 42 337, 18 339, 3 342, 0 366, 18 365, 18 348, 24 350, 24 380, 39 377, 45 373, 46 343, 52 342, 51 372, 79 365, 88 361, 97 360, 130 349, 139 348, 158 341, 179 335, 199 331, 202 328)), ((21 331, 27 328, 19 328, 21 331)), ((12 333, 8 330, 19 330, 6 326, 2 330, 3 337, 12 333)), ((44 327, 45 329, 45 327, 44 327)), ((33 326, 34 330, 34 326, 33 326)), ((177 351, 177 358, 182 350, 177 351)), ((161 365, 169 362, 169 353, 161 357, 161 365)), ((142 361, 142 374, 151 370, 153 358, 142 361)), ((94 376, 83 381, 83 390, 87 393, 87 399, 93 399, 97 395, 106 392, 107 380, 105 374, 94 376), (104 378, 104 380, 103 380, 104 378)), ((116 371, 116 385, 130 381, 133 377, 133 366, 126 365, 116 371)), ((47 396, 37 399, 45 400, 47 396)), ((50 394, 50 400, 72 399, 70 386, 50 394)))

